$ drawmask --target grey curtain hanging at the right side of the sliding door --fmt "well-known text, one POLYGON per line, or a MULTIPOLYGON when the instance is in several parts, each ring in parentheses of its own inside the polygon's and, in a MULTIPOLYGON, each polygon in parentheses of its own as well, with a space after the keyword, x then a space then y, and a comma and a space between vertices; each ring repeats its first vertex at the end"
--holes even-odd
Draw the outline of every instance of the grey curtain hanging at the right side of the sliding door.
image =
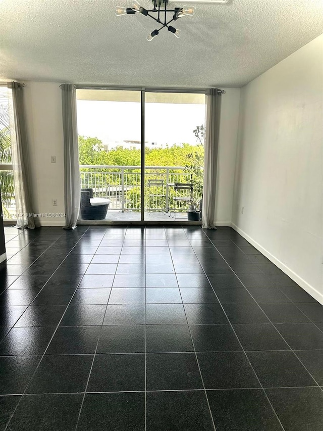
POLYGON ((222 90, 206 93, 206 135, 204 147, 203 227, 216 229, 216 188, 222 90))

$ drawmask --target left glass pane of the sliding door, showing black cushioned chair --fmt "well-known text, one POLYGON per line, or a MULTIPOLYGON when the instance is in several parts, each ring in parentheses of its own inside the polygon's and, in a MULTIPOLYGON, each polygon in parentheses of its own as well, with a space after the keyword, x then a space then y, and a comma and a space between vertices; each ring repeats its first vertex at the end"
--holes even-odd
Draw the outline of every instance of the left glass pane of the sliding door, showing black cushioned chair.
POLYGON ((140 220, 141 92, 77 90, 83 220, 140 220))

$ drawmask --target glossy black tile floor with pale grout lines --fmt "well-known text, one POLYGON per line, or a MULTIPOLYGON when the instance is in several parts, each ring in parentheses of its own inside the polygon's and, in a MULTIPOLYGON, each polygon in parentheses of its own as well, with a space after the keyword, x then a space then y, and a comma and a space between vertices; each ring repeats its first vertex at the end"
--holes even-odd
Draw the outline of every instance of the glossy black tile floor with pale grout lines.
POLYGON ((0 431, 321 431, 323 306, 231 228, 6 228, 0 431))

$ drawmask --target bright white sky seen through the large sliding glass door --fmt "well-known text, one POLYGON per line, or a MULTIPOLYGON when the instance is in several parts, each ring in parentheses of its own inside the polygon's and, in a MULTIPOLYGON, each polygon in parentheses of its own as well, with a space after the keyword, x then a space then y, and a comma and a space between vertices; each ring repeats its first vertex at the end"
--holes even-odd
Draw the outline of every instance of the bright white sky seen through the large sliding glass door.
MULTIPOLYGON (((103 143, 141 140, 141 107, 138 102, 77 101, 78 134, 103 143)), ((145 104, 145 141, 196 145, 193 130, 204 124, 201 104, 145 104)))

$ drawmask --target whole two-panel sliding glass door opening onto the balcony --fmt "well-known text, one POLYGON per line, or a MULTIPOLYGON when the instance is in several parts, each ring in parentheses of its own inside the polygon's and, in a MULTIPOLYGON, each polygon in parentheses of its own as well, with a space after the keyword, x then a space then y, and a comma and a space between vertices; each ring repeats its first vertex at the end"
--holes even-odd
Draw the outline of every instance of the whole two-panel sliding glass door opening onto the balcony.
POLYGON ((80 88, 77 120, 82 220, 199 221, 205 93, 80 88))

